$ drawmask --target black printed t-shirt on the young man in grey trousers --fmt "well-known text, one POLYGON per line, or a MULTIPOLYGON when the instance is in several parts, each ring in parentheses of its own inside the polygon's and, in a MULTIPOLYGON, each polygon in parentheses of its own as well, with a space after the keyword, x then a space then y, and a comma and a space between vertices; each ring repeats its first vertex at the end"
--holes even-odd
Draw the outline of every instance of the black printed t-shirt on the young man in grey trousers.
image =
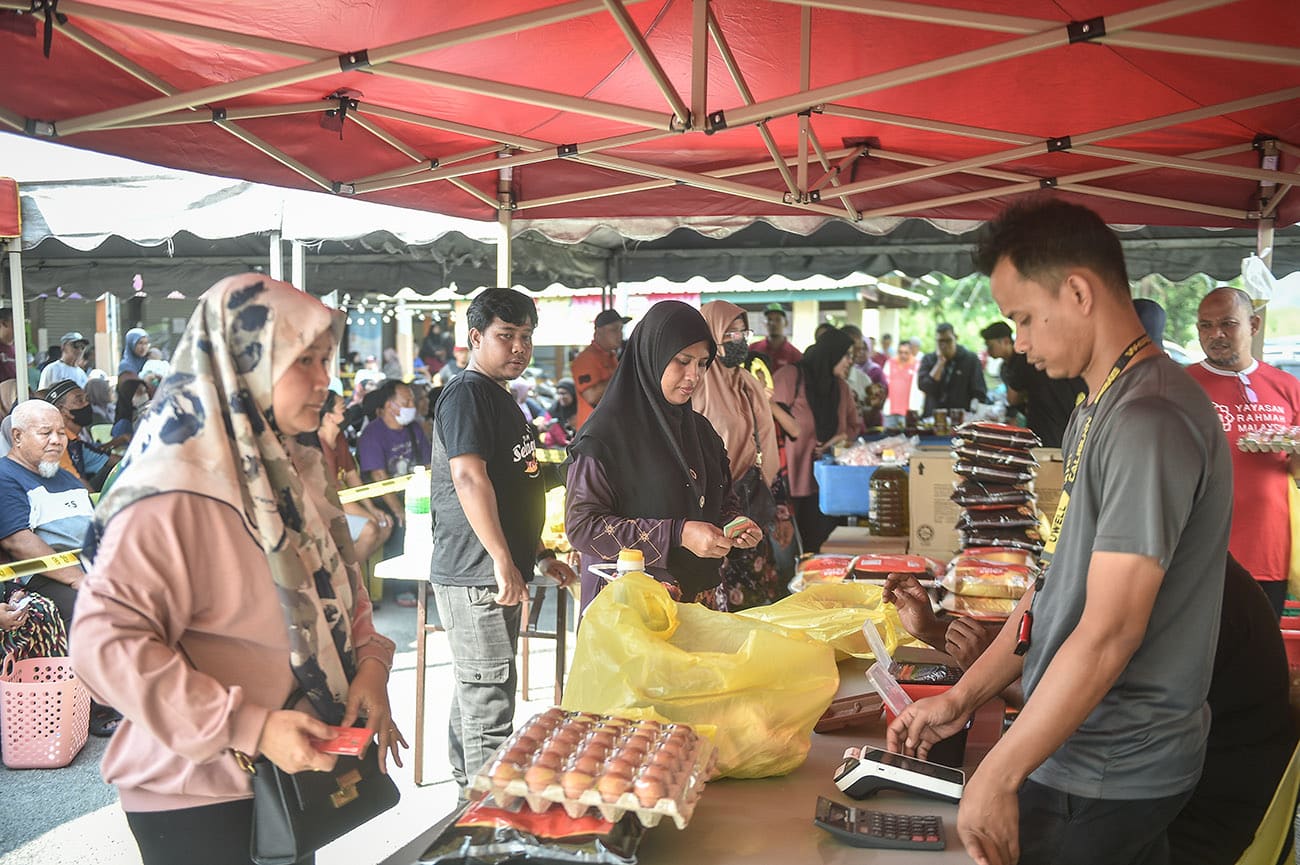
POLYGON ((546 489, 537 462, 537 434, 514 397, 468 369, 448 384, 434 410, 430 509, 430 579, 442 585, 493 585, 493 562, 474 535, 451 483, 450 460, 476 454, 488 463, 511 558, 524 579, 533 574, 546 516, 546 489))

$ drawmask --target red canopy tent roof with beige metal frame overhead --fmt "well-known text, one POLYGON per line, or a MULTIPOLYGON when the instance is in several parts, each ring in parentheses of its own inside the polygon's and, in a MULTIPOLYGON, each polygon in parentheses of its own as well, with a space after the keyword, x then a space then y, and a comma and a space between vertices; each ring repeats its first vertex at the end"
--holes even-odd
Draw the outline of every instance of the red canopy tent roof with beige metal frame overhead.
POLYGON ((0 127, 458 216, 1300 220, 1295 0, 3 9, 0 127))

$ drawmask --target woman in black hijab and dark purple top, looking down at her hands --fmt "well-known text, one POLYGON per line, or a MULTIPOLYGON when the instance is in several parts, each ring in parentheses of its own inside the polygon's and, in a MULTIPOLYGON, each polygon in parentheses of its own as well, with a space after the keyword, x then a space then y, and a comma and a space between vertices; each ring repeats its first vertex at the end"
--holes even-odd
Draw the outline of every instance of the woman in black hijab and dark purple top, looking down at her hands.
POLYGON ((740 516, 722 438, 690 398, 718 354, 697 310, 677 300, 650 307, 632 330, 601 405, 569 447, 564 529, 582 554, 582 607, 601 588, 592 565, 638 549, 646 572, 693 600, 720 581, 732 546, 753 548, 740 516))

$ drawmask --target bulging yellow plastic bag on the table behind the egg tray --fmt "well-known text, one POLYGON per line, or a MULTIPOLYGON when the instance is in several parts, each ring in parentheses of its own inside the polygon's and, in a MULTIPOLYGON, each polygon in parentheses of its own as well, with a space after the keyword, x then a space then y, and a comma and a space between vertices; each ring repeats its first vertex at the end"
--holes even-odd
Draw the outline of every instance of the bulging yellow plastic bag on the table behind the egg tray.
POLYGON ((718 770, 784 775, 840 684, 829 646, 781 627, 676 604, 644 574, 611 581, 577 632, 564 709, 716 728, 718 770))

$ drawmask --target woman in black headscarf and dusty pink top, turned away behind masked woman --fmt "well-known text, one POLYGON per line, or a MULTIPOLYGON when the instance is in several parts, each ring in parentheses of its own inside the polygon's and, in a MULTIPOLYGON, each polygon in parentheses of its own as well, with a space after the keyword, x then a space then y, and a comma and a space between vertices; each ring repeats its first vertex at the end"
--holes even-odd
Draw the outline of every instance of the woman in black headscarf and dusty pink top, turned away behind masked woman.
POLYGON ((835 519, 818 507, 816 480, 812 463, 822 454, 845 441, 858 427, 858 408, 844 376, 853 363, 853 338, 842 330, 824 330, 803 353, 798 363, 783 367, 772 377, 776 402, 789 407, 803 431, 785 446, 794 501, 794 519, 800 526, 805 553, 816 553, 831 536, 835 519))

